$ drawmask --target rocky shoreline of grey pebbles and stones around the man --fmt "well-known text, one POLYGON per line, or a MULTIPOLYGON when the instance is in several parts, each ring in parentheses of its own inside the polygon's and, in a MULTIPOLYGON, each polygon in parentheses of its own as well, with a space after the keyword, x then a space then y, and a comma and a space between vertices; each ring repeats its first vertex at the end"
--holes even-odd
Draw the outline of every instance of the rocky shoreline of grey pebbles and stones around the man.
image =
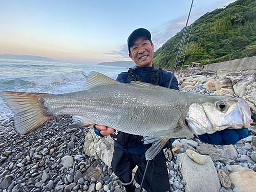
MULTIPOLYGON (((193 73, 199 71, 180 72, 176 76, 181 79, 180 83, 186 82, 187 78, 190 78, 188 82, 193 82, 194 77, 198 75, 193 73)), ((216 74, 204 77, 186 86, 180 84, 180 90, 214 95, 216 91, 207 90, 205 82, 218 77, 216 74)), ((122 183, 108 165, 84 153, 83 145, 89 129, 69 129, 72 123, 71 116, 59 116, 41 125, 31 134, 20 136, 14 130, 12 119, 0 119, 0 192, 123 191, 122 183)), ((191 183, 193 178, 189 178, 192 177, 191 173, 189 174, 191 168, 189 166, 199 168, 200 164, 193 164, 194 161, 191 160, 193 162, 186 165, 187 154, 190 151, 203 155, 206 162, 209 162, 207 166, 213 166, 214 174, 217 174, 217 179, 221 183, 217 183, 216 188, 204 188, 201 191, 238 192, 243 191, 241 187, 244 187, 244 183, 246 189, 250 187, 255 189, 255 182, 242 180, 244 183, 240 185, 232 180, 234 174, 250 170, 247 178, 253 178, 255 181, 256 137, 253 137, 255 134, 255 126, 251 126, 248 138, 239 141, 236 145, 227 146, 204 144, 194 137, 177 139, 174 143, 175 159, 167 162, 172 191, 192 191, 195 187, 200 191, 204 181, 214 180, 212 175, 198 174, 197 177, 202 178, 197 179, 201 179, 202 183, 191 183), (237 166, 243 169, 237 171, 237 166)), ((138 187, 137 183, 135 185, 138 187)))

